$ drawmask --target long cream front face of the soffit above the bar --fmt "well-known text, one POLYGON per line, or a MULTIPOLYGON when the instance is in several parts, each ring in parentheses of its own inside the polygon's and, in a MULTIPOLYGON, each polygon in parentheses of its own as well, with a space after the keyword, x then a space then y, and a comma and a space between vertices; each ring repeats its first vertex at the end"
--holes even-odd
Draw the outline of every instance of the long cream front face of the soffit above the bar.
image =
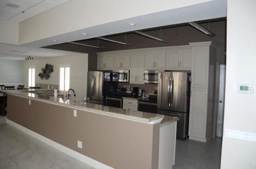
POLYGON ((21 22, 19 44, 209 1, 211 0, 70 0, 21 22))

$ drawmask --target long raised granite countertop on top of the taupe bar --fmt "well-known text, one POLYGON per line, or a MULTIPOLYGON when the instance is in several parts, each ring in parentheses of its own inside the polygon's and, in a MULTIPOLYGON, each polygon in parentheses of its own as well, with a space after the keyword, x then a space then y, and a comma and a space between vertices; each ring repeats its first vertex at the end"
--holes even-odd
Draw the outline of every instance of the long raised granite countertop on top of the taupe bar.
MULTIPOLYGON (((36 90, 36 89, 32 89, 31 91, 33 90, 36 90)), ((103 114, 107 116, 124 118, 127 120, 153 123, 156 120, 161 120, 162 118, 164 118, 164 115, 161 115, 161 114, 154 114, 154 113, 148 113, 148 112, 140 112, 140 111, 126 110, 126 109, 109 107, 109 106, 102 106, 98 104, 81 102, 80 100, 64 101, 62 100, 62 98, 54 98, 54 96, 42 95, 42 94, 38 95, 38 94, 27 92, 28 90, 26 90, 26 92, 23 92, 22 90, 2 90, 2 91, 14 96, 20 96, 23 98, 29 98, 32 100, 38 100, 42 102, 47 102, 47 103, 56 104, 60 106, 66 106, 69 108, 84 110, 88 112, 94 112, 94 113, 103 114)))

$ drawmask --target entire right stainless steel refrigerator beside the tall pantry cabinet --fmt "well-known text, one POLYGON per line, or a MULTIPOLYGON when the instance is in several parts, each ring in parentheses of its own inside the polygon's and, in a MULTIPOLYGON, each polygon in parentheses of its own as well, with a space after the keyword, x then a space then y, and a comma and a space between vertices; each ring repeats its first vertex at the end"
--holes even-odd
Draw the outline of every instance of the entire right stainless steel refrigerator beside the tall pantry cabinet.
POLYGON ((157 112, 178 116, 177 138, 188 138, 188 117, 190 102, 190 73, 159 72, 157 112))

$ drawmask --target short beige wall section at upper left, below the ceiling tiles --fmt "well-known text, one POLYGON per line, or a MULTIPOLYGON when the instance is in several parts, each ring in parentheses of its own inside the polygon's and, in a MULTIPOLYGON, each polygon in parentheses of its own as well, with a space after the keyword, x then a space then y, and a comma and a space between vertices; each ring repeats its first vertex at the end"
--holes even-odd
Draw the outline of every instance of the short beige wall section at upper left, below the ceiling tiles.
POLYGON ((18 45, 18 23, 0 21, 0 30, 0 43, 18 45))

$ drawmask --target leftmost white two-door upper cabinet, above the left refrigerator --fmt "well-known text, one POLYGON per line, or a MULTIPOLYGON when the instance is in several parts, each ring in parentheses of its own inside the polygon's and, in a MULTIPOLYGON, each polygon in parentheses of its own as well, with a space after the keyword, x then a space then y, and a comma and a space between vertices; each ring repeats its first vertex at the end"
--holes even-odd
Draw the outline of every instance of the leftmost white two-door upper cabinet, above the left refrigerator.
POLYGON ((97 70, 112 70, 114 67, 114 55, 98 55, 97 70))

